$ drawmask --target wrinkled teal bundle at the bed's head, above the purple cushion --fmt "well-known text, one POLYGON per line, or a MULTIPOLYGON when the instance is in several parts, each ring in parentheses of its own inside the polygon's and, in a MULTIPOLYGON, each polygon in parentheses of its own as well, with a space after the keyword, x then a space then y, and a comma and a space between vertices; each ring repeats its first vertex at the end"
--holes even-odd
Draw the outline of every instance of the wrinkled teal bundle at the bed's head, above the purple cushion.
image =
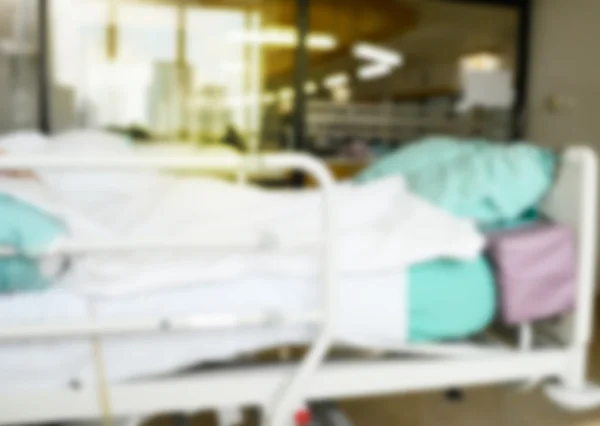
POLYGON ((555 155, 533 145, 431 137, 387 155, 356 181, 402 175, 415 194, 445 210, 494 224, 535 207, 555 167, 555 155))

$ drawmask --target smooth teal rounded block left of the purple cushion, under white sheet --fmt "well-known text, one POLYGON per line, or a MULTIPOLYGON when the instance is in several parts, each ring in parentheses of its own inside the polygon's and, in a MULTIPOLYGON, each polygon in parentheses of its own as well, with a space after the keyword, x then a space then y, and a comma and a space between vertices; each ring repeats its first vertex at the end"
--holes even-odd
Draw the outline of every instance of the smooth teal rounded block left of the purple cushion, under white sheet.
POLYGON ((489 325, 496 312, 492 268, 483 256, 471 262, 437 260, 409 268, 411 342, 461 339, 489 325))

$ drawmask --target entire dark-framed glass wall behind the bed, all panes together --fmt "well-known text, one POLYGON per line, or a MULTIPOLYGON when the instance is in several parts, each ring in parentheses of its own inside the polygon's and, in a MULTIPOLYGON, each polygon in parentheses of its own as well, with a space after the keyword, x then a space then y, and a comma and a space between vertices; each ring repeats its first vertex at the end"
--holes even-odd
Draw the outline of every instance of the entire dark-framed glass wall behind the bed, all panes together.
POLYGON ((3 1, 0 132, 302 150, 342 175, 427 135, 508 141, 523 133, 518 3, 3 1))

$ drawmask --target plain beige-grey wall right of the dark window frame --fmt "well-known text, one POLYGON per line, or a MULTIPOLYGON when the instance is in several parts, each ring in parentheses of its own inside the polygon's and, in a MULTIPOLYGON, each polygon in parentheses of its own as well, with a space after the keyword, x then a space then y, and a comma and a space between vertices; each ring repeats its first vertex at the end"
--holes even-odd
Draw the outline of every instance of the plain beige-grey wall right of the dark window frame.
POLYGON ((599 0, 534 0, 528 137, 600 152, 599 0), (554 96, 563 106, 547 107, 554 96))

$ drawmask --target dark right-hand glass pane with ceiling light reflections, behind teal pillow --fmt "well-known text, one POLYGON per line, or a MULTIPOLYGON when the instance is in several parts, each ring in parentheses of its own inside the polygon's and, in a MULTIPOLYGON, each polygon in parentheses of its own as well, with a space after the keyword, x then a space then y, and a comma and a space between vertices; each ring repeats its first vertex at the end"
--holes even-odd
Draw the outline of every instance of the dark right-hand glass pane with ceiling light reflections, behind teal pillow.
POLYGON ((310 21, 337 42, 311 54, 313 152, 368 160, 429 135, 511 138, 517 8, 321 0, 310 21))

